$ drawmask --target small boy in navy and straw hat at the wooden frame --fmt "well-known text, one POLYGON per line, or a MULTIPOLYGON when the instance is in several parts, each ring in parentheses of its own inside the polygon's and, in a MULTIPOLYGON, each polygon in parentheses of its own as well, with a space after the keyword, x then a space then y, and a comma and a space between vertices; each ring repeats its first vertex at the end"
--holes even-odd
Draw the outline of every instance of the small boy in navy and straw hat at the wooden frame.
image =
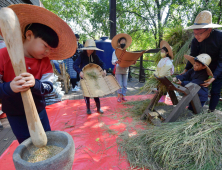
MULTIPOLYGON (((210 68, 208 67, 211 63, 211 57, 208 54, 200 54, 197 57, 191 57, 189 55, 184 55, 186 59, 193 65, 193 69, 188 70, 185 74, 178 75, 174 77, 173 81, 177 81, 177 84, 182 86, 187 85, 188 83, 195 83, 198 85, 203 84, 210 76, 213 76, 210 68)), ((201 105, 208 99, 208 88, 200 86, 201 89, 198 91, 201 105)), ((188 109, 193 111, 191 104, 189 104, 188 109)))

